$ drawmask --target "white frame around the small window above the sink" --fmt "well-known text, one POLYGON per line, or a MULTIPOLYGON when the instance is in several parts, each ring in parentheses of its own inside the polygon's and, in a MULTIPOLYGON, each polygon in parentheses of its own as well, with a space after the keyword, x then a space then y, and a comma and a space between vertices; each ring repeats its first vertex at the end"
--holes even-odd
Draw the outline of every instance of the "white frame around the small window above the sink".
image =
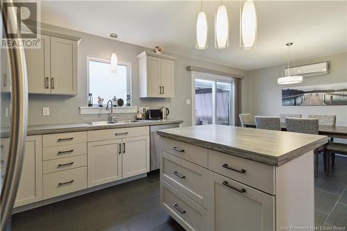
MULTIPOLYGON (((90 65, 89 62, 105 62, 111 64, 111 58, 99 58, 92 55, 87 55, 87 96, 90 93, 90 65)), ((133 94, 132 94, 132 85, 131 85, 131 62, 124 61, 124 60, 118 60, 118 65, 126 66, 126 92, 127 94, 130 94, 130 106, 133 105, 133 94)), ((85 103, 88 105, 88 97, 85 97, 85 103)), ((126 99, 124 99, 124 103, 126 99)), ((93 104, 93 107, 98 107, 98 105, 93 104)))

